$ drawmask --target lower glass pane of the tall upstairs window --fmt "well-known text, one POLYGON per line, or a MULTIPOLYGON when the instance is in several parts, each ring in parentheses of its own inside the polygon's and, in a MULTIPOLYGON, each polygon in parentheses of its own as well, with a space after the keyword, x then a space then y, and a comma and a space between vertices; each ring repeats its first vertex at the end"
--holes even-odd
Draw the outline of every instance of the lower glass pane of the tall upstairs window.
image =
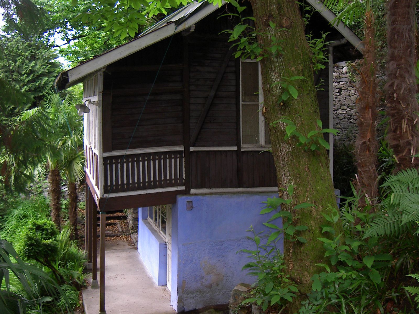
POLYGON ((259 104, 241 105, 242 144, 259 144, 259 104))

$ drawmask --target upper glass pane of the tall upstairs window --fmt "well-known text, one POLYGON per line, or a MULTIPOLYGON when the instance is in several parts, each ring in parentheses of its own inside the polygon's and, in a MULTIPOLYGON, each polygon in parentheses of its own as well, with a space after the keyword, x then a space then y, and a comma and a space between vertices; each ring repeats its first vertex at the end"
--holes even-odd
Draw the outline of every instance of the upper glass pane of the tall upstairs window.
POLYGON ((259 63, 241 63, 241 100, 259 102, 259 63))

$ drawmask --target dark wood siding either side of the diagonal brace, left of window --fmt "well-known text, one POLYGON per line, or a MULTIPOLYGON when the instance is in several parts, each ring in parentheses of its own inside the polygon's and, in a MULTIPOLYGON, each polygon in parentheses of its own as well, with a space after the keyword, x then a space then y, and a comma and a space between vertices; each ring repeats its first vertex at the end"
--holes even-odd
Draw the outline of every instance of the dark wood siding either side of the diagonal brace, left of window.
MULTIPOLYGON (((226 39, 189 36, 190 133, 193 134, 230 44, 226 39)), ((195 147, 236 146, 236 78, 232 56, 199 129, 195 147)))

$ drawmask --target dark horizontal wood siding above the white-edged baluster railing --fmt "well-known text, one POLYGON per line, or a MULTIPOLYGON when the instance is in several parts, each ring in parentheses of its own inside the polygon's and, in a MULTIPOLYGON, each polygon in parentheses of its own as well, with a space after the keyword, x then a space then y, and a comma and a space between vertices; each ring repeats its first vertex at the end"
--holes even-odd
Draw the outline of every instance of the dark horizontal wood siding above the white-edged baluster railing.
POLYGON ((181 43, 175 36, 170 46, 163 40, 107 67, 112 150, 127 149, 130 141, 129 149, 183 145, 181 43))

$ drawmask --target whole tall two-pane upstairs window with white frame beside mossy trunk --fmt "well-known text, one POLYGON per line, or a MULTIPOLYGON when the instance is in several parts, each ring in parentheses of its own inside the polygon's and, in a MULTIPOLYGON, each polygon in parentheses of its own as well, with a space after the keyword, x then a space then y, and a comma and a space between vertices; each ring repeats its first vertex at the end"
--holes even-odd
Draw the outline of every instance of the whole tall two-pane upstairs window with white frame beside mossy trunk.
POLYGON ((241 75, 241 144, 260 146, 271 144, 268 126, 261 113, 263 102, 259 62, 242 60, 241 75))

